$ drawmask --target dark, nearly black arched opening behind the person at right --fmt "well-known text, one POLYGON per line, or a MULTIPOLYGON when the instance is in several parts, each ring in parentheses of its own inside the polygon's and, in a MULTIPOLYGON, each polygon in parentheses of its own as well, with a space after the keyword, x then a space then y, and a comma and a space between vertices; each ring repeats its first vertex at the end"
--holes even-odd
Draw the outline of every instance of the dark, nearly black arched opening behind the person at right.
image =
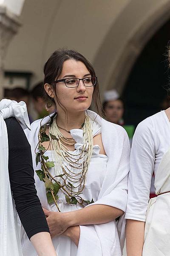
POLYGON ((167 45, 170 20, 148 41, 137 58, 123 91, 125 122, 135 126, 147 116, 161 110, 168 86, 167 45))

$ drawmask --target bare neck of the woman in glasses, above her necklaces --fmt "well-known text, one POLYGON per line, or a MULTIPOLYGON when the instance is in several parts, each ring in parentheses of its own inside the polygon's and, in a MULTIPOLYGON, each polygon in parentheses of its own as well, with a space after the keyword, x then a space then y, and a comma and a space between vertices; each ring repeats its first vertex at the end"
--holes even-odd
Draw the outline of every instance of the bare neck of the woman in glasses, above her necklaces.
POLYGON ((80 128, 85 122, 85 111, 76 112, 76 113, 57 113, 56 119, 57 125, 60 127, 71 130, 80 128))

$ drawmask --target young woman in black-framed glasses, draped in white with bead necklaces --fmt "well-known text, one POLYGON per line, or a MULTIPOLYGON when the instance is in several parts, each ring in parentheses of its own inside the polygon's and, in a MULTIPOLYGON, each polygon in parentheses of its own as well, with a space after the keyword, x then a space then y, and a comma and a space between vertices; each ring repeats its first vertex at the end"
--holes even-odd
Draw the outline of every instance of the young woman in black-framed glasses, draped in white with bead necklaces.
MULTIPOLYGON (((124 214, 127 204, 127 134, 88 111, 94 100, 101 112, 99 86, 93 67, 79 52, 55 51, 45 63, 44 76, 47 105, 55 105, 57 112, 35 121, 27 136, 34 169, 41 168, 40 178, 35 175, 36 188, 55 250, 59 256, 121 256, 125 220, 119 219, 117 229, 115 219, 124 214), (44 142, 48 135, 51 143, 44 142)), ((26 256, 34 256, 28 239, 25 246, 26 256)))

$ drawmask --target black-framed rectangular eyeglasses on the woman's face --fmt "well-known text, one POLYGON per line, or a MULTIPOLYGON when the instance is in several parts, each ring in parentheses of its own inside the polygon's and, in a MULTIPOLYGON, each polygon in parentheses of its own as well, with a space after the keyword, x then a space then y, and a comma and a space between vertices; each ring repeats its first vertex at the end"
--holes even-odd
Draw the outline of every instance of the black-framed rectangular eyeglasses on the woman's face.
POLYGON ((54 81, 55 84, 60 83, 60 82, 65 82, 66 87, 74 88, 79 86, 79 81, 82 80, 83 84, 87 87, 94 86, 97 81, 96 76, 90 76, 90 77, 85 77, 85 78, 65 78, 65 79, 60 79, 57 81, 54 81))

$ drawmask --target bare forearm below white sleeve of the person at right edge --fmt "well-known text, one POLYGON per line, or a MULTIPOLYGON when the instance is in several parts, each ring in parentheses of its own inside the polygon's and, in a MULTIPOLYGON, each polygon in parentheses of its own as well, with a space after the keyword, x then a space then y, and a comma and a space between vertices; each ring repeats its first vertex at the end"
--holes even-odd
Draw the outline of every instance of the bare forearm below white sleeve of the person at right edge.
POLYGON ((144 244, 143 221, 127 220, 126 224, 126 250, 127 256, 142 256, 144 244))

